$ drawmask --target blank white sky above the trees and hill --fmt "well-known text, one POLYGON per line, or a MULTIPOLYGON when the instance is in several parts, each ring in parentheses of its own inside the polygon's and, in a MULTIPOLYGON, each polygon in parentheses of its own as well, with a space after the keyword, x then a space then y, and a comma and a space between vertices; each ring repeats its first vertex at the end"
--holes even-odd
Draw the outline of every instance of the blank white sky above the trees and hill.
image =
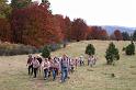
MULTIPOLYGON (((41 1, 41 0, 33 0, 41 1)), ((48 0, 54 14, 81 18, 89 25, 136 27, 136 0, 48 0)))

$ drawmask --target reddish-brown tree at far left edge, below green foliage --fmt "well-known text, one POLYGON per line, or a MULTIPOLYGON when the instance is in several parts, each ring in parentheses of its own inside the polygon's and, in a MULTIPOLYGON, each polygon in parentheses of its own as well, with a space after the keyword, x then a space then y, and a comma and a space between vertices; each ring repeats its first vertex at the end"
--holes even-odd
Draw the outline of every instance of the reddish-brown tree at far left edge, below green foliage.
POLYGON ((0 19, 0 41, 11 42, 12 32, 10 31, 10 23, 5 19, 0 19))

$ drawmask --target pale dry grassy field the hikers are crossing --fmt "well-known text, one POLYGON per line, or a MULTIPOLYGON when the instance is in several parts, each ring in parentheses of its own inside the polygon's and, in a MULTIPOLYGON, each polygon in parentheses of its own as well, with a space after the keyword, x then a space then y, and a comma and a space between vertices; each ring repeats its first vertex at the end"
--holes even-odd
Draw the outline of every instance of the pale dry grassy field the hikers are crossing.
POLYGON ((114 42, 120 49, 121 59, 115 66, 105 65, 105 49, 110 41, 83 41, 71 43, 66 48, 54 52, 53 56, 67 54, 70 57, 84 55, 88 44, 93 44, 99 58, 94 67, 79 67, 65 83, 45 81, 42 75, 36 79, 27 76, 26 58, 21 56, 0 57, 0 90, 136 90, 136 55, 126 56, 123 46, 129 42, 114 42), (111 74, 115 74, 112 78, 111 74))

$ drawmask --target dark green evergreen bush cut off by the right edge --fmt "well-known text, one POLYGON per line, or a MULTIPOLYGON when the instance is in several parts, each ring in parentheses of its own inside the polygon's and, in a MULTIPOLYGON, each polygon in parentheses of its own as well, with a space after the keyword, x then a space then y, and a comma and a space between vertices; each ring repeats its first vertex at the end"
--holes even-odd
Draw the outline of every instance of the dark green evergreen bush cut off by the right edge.
POLYGON ((135 55, 135 44, 132 42, 124 50, 126 55, 135 55))

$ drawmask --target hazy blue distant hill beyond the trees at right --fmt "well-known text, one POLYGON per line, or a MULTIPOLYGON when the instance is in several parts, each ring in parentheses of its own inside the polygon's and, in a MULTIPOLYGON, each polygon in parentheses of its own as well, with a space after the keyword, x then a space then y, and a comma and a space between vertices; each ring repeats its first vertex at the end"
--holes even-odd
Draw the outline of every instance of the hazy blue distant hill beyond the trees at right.
POLYGON ((121 32, 128 32, 129 34, 132 34, 136 30, 136 27, 126 27, 117 25, 102 25, 102 27, 105 29, 109 34, 112 34, 115 30, 120 30, 121 32))

